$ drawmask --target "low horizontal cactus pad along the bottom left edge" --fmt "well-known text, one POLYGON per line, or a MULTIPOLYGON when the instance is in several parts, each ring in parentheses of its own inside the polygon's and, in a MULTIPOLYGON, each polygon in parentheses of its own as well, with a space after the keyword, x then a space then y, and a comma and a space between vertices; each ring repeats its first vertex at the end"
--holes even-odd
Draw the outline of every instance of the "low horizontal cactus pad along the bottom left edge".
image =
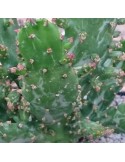
MULTIPOLYGON (((64 134, 62 126, 38 128, 39 123, 0 123, 0 143, 44 143, 44 142, 74 142, 71 134, 64 134), (44 133, 43 133, 44 132, 44 133), (69 138, 70 136, 70 138, 69 138)), ((41 127, 43 125, 41 124, 41 127)), ((75 141, 76 142, 76 141, 75 141)))

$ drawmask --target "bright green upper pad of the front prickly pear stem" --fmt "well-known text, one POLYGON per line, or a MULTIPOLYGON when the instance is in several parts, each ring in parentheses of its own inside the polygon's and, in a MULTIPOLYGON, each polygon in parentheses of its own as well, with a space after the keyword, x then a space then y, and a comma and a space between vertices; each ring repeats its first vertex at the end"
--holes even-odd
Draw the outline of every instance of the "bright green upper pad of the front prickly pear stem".
POLYGON ((58 28, 47 20, 27 24, 19 33, 19 49, 30 70, 57 65, 64 57, 58 28))

